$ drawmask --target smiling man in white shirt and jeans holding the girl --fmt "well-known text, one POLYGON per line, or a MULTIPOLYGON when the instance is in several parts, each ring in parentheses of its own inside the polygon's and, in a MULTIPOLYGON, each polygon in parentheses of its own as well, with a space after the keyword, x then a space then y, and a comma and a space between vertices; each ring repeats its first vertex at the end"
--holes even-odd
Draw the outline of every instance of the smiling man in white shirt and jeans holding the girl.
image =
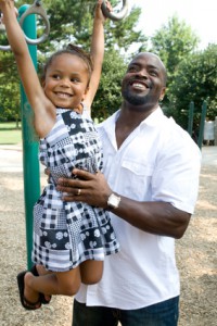
POLYGON ((104 175, 74 170, 60 180, 66 201, 111 211, 120 252, 107 256, 102 280, 82 285, 73 326, 175 326, 179 275, 175 239, 194 211, 201 153, 158 105, 166 70, 153 53, 138 54, 123 79, 123 104, 99 126, 104 175))

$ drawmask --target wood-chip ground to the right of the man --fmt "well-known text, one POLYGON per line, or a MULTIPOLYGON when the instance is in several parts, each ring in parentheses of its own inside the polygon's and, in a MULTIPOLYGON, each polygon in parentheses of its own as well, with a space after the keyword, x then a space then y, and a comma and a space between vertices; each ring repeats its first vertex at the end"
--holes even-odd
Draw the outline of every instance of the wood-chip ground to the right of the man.
POLYGON ((216 190, 216 166, 203 167, 195 214, 183 238, 177 241, 180 326, 217 325, 216 190))

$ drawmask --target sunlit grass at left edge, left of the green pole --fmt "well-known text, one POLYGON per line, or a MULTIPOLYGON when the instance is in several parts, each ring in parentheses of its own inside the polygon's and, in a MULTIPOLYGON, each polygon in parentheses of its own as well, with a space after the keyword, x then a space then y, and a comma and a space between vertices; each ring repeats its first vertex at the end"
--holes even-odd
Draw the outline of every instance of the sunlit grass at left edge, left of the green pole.
POLYGON ((0 145, 16 145, 21 142, 22 130, 21 128, 16 129, 15 122, 0 123, 0 145))

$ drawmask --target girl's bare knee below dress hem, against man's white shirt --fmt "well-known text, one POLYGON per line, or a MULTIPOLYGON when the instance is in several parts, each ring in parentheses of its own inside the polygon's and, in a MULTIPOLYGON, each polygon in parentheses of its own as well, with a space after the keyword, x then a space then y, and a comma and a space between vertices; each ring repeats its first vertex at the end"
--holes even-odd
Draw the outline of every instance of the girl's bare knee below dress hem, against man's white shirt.
POLYGON ((103 273, 103 261, 85 261, 80 264, 81 283, 91 285, 100 281, 103 273))

